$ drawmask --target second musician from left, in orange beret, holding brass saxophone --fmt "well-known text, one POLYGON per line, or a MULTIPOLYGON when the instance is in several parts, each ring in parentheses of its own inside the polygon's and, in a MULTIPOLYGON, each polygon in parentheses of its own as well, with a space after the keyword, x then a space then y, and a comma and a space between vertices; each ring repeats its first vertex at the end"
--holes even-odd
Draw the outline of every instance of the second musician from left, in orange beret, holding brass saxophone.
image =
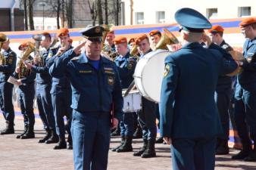
POLYGON ((25 63, 33 62, 33 57, 30 56, 30 53, 33 51, 33 45, 31 42, 23 43, 19 46, 19 50, 23 51, 23 53, 17 63, 13 76, 17 79, 17 85, 19 85, 17 93, 20 101, 20 110, 24 118, 24 131, 22 134, 18 134, 17 138, 29 139, 35 138, 33 101, 35 97, 36 73, 27 69, 25 63))

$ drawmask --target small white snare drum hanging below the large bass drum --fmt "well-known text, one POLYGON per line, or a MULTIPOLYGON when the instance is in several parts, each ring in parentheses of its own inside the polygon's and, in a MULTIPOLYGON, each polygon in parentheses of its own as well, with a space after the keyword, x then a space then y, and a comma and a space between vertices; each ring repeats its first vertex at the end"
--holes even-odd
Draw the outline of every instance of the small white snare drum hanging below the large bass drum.
MULTIPOLYGON (((123 94, 125 91, 123 91, 123 94)), ((126 97, 123 97, 123 112, 130 113, 142 109, 142 96, 139 91, 130 91, 126 97)))

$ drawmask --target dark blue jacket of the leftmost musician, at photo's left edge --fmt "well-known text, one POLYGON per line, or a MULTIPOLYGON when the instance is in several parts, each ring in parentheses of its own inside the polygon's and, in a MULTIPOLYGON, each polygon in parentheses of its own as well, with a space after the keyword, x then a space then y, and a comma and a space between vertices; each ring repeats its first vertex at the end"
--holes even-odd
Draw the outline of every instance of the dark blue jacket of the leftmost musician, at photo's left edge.
POLYGON ((0 82, 7 82, 9 76, 14 73, 16 67, 17 55, 11 48, 2 53, 5 57, 5 64, 0 65, 0 82))

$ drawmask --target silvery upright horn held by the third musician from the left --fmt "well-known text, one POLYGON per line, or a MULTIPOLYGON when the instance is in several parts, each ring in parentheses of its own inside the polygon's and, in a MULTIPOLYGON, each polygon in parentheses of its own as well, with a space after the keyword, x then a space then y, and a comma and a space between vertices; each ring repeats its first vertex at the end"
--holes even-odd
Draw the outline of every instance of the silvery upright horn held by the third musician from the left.
POLYGON ((36 35, 33 35, 32 38, 35 40, 34 61, 39 66, 44 66, 44 60, 42 57, 42 53, 40 51, 40 44, 42 42, 43 36, 42 34, 36 34, 36 35))

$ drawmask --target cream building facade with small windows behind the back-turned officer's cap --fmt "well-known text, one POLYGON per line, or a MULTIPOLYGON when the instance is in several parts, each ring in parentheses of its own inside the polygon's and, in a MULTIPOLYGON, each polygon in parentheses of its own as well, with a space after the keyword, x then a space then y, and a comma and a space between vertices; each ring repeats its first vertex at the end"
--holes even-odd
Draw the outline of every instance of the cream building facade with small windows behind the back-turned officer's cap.
POLYGON ((122 0, 123 24, 175 23, 180 8, 194 8, 208 19, 256 17, 254 0, 122 0))

